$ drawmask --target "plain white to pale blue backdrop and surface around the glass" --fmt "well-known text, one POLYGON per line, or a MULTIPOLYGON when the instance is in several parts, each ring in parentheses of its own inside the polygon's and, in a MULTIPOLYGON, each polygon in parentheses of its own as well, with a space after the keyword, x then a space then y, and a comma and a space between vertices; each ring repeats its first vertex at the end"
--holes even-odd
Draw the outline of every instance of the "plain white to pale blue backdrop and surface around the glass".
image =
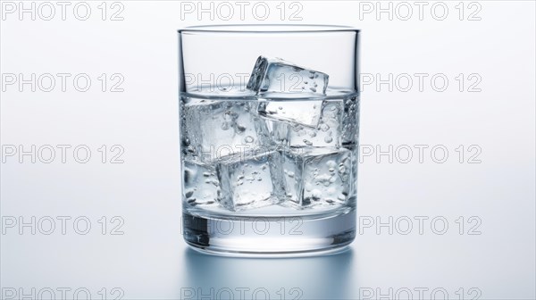
POLYGON ((52 289, 62 298, 65 287, 67 298, 78 291, 93 299, 188 298, 191 291, 196 299, 229 298, 229 289, 235 299, 239 290, 254 297, 255 289, 260 299, 263 291, 272 299, 407 298, 407 290, 414 299, 534 299, 534 2, 423 2, 420 15, 415 2, 381 3, 392 5, 392 20, 376 15, 375 2, 244 3, 204 2, 208 12, 197 15, 197 1, 26 2, 35 5, 32 20, 18 2, 1 2, 2 296, 46 298, 52 289), (242 15, 239 5, 246 5, 242 15), (360 142, 374 153, 359 166, 358 221, 373 224, 360 227, 347 253, 222 258, 182 241, 176 30, 222 23, 362 29, 362 79, 374 81, 363 87, 360 142), (35 92, 18 81, 32 73, 35 92), (65 91, 58 73, 71 75, 65 91), (422 88, 415 73, 427 74, 422 88), (43 74, 54 76, 51 91, 43 74), (77 74, 91 79, 88 91, 77 90, 83 79, 73 84, 77 74), (389 74, 392 90, 376 86, 376 76, 389 74), (120 79, 122 91, 112 92, 120 79), (19 155, 32 145, 36 162, 19 155), (50 163, 46 145, 55 149, 50 163), (64 163, 58 145, 71 146, 64 163), (413 149, 409 162, 405 145, 413 149), (422 162, 415 145, 428 146, 422 162), (83 150, 75 160, 76 146, 90 149, 88 162, 80 162, 83 150), (389 146, 392 162, 377 155, 389 146), (440 150, 431 155, 434 146, 440 150), (122 163, 110 163, 121 149, 122 163), (448 150, 442 163, 441 149, 448 150), (63 217, 71 218, 64 234, 63 217), (51 219, 55 228, 45 234, 51 219))

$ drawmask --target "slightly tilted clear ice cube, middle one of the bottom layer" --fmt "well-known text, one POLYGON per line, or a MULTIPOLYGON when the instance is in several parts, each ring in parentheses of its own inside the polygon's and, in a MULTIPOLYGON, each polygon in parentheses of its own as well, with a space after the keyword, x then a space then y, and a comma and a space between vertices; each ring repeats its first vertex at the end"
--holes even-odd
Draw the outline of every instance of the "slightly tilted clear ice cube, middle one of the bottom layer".
POLYGON ((232 157, 216 168, 222 184, 220 204, 233 212, 277 204, 284 195, 281 154, 272 151, 232 157))

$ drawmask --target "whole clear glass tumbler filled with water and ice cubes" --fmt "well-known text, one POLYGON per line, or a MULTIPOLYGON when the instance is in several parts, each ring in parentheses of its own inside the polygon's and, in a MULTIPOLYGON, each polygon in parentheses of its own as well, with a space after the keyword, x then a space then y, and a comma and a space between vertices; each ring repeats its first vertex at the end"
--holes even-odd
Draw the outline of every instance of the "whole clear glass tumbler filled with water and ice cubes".
POLYGON ((182 229, 214 254, 331 253, 356 236, 359 30, 179 30, 182 229))

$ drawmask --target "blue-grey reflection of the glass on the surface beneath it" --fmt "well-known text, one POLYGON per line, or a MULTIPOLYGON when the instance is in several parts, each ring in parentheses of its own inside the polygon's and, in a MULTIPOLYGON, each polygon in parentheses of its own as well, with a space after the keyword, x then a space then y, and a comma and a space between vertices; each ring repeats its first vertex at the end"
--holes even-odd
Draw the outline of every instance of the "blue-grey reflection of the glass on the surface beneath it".
MULTIPOLYGON (((184 299, 348 298, 353 250, 299 258, 237 258, 184 253, 184 299)), ((355 282, 355 284, 357 284, 355 282)))

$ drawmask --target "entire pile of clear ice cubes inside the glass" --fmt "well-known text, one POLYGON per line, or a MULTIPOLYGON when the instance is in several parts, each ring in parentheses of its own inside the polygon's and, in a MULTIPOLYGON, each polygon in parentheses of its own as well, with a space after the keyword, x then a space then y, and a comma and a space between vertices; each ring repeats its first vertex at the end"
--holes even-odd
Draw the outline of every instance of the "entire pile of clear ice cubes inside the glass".
POLYGON ((354 154, 344 146, 356 122, 345 114, 355 101, 326 100, 328 80, 321 71, 260 56, 247 83, 255 101, 181 102, 186 204, 232 212, 345 204, 356 176, 354 154))

